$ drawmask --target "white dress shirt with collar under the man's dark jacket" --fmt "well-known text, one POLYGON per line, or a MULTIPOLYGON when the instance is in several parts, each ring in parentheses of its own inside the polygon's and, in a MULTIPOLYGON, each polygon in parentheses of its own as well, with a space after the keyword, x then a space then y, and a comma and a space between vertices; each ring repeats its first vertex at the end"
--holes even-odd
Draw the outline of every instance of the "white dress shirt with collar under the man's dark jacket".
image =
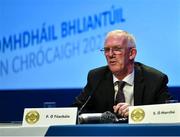
MULTIPOLYGON (((116 81, 119 81, 114 75, 113 75, 113 83, 116 81)), ((134 105, 134 70, 131 74, 127 75, 122 81, 126 82, 123 88, 124 96, 125 96, 125 101, 129 105, 133 106, 134 105)), ((114 100, 116 98, 116 94, 118 92, 118 85, 114 84, 114 90, 115 90, 115 96, 114 100)))

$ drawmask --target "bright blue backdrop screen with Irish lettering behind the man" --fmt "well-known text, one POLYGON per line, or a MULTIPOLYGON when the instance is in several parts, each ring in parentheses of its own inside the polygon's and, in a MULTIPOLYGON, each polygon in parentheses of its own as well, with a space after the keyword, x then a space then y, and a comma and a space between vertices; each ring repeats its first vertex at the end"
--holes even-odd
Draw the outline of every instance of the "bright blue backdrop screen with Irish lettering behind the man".
POLYGON ((179 0, 0 0, 0 89, 82 88, 113 29, 180 86, 179 17, 179 0))

